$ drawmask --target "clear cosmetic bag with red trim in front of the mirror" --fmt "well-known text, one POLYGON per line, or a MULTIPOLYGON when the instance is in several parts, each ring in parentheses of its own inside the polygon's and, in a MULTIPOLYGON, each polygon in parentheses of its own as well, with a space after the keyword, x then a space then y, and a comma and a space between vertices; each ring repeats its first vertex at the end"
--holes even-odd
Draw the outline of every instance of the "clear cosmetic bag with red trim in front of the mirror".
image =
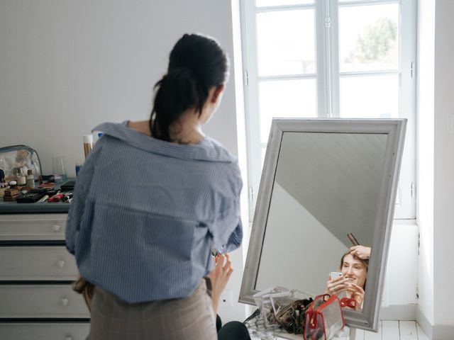
POLYGON ((345 320, 336 295, 318 295, 306 310, 305 340, 330 340, 343 329, 345 320))

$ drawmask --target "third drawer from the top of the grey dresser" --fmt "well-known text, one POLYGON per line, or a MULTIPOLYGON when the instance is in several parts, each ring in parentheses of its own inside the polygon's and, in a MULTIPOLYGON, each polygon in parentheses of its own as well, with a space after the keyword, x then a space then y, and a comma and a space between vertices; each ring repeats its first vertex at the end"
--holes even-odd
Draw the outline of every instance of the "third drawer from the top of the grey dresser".
POLYGON ((70 285, 0 285, 0 318, 89 318, 70 285))

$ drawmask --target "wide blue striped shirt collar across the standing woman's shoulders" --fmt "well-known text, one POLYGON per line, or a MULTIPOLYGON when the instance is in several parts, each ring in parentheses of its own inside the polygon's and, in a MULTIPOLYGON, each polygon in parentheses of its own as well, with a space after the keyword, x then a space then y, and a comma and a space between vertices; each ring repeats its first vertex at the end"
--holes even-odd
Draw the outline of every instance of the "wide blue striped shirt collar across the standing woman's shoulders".
POLYGON ((137 130, 128 128, 125 123, 102 123, 96 126, 93 131, 100 131, 103 135, 115 137, 132 147, 143 149, 145 152, 161 154, 167 157, 206 162, 236 162, 235 157, 208 136, 195 145, 180 145, 144 135, 137 130))

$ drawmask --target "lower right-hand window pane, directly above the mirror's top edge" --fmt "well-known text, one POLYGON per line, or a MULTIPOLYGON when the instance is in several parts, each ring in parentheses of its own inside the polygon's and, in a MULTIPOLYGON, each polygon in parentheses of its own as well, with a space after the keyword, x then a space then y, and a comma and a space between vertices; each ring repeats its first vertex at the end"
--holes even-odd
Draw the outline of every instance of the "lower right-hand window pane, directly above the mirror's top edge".
POLYGON ((399 76, 341 77, 342 118, 399 118, 399 76))

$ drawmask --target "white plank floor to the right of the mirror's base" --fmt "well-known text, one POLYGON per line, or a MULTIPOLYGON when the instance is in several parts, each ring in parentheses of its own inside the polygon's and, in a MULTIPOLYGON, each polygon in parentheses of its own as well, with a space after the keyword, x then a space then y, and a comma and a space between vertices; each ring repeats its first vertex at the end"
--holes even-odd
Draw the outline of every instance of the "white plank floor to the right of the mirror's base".
POLYGON ((356 330, 355 340, 428 340, 414 321, 381 321, 378 333, 356 330))

